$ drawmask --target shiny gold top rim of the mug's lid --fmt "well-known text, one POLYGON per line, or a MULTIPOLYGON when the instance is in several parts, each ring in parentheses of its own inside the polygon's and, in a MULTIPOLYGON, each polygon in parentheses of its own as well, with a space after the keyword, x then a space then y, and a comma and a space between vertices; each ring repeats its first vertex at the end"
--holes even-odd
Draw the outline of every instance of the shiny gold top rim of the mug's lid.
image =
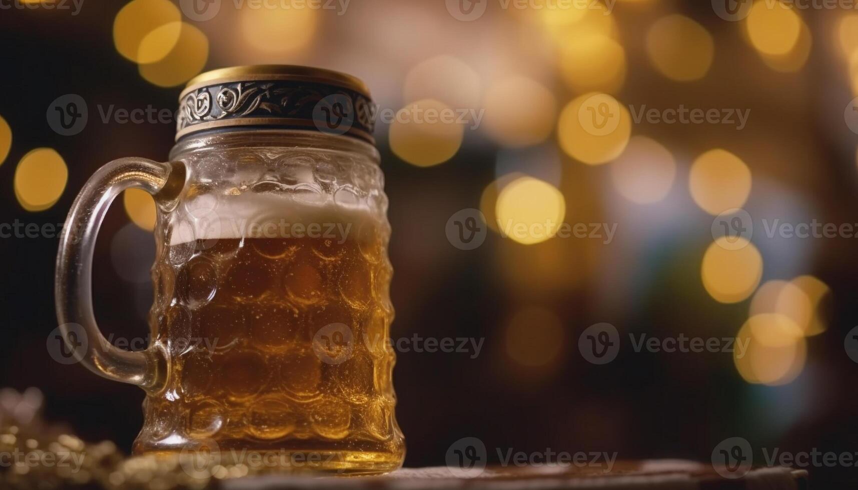
POLYGON ((185 86, 182 94, 179 95, 179 100, 183 99, 185 94, 197 88, 220 83, 254 82, 259 80, 296 80, 300 82, 324 83, 342 88, 350 88, 359 94, 363 94, 367 99, 372 99, 369 88, 366 88, 366 84, 360 78, 340 71, 297 64, 249 64, 211 70, 195 76, 185 86))

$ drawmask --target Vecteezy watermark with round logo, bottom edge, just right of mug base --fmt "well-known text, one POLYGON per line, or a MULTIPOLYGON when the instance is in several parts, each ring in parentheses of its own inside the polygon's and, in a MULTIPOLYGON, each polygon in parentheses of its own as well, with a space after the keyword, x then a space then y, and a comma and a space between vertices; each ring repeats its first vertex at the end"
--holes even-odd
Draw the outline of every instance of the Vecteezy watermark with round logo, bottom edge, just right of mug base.
MULTIPOLYGON (((605 451, 515 451, 513 448, 495 448, 498 461, 502 467, 539 468, 553 466, 560 468, 601 469, 602 473, 610 473, 617 453, 605 451)), ((457 478, 474 478, 482 475, 486 469, 488 451, 486 445, 478 438, 467 437, 454 442, 445 455, 447 469, 457 478)))

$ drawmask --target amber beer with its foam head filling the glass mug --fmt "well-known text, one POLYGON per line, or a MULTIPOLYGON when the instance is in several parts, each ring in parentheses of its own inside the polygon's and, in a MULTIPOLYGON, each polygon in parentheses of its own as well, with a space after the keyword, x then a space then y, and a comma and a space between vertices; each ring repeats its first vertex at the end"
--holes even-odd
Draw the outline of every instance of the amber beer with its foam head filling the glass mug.
POLYGON ((331 226, 314 229, 333 235, 294 237, 281 208, 236 203, 196 203, 197 214, 202 204, 214 211, 204 223, 175 218, 160 251, 163 300, 153 314, 157 335, 172 342, 171 401, 153 398, 161 408, 147 410, 146 426, 165 430, 149 433, 148 444, 210 438, 221 447, 401 457, 386 222, 317 206, 314 219, 331 226), (251 233, 247 216, 274 235, 251 233), (186 233, 175 233, 179 222, 189 223, 186 233), (314 342, 320 334, 328 345, 314 342))

